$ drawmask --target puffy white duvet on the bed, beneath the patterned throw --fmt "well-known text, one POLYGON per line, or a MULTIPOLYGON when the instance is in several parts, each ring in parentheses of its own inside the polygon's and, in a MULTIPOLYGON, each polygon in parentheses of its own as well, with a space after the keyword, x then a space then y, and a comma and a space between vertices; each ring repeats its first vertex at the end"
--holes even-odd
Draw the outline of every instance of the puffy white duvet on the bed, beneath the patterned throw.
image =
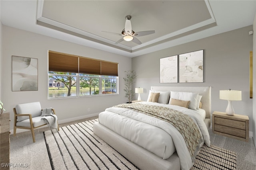
MULTIPOLYGON (((189 115, 198 125, 204 143, 210 146, 208 129, 198 111, 153 102, 141 103, 169 107, 189 115)), ((169 158, 177 151, 182 170, 189 170, 193 165, 182 135, 166 121, 130 109, 110 107, 99 114, 99 122, 122 137, 153 152, 163 159, 169 158)))

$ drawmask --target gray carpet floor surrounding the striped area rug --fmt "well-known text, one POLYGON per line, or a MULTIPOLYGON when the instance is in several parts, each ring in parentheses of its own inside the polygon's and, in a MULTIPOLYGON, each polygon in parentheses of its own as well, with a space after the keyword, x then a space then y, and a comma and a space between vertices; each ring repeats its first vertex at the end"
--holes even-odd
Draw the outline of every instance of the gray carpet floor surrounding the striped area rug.
MULTIPOLYGON (((60 127, 72 125, 96 119, 91 117, 59 124, 60 127)), ((50 159, 44 139, 44 131, 50 130, 48 127, 36 129, 36 142, 33 143, 30 131, 18 133, 15 137, 10 134, 10 163, 28 164, 27 167, 12 166, 10 170, 51 170, 50 159), (39 151, 39 150, 40 151, 39 151)), ((210 141, 212 145, 236 152, 236 168, 237 170, 256 170, 256 149, 252 137, 249 142, 239 141, 229 137, 224 137, 212 133, 209 129, 210 141)))

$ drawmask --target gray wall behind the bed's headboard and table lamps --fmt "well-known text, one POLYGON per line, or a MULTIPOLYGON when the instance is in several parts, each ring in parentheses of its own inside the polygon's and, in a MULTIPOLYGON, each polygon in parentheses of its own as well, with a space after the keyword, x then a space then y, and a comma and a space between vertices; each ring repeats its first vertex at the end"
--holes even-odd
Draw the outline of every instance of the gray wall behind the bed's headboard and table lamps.
MULTIPOLYGON (((232 102, 236 114, 248 115, 252 129, 252 99, 249 89, 252 25, 221 33, 190 43, 177 45, 132 58, 132 69, 138 74, 135 87, 144 88, 140 94, 147 100, 150 86, 211 86, 212 112, 225 112, 228 102, 219 99, 219 90, 241 90, 242 101, 232 102), (160 58, 204 49, 204 83, 160 83, 160 58)), ((136 94, 134 100, 138 98, 136 94)), ((251 133, 252 134, 252 133, 251 133)))

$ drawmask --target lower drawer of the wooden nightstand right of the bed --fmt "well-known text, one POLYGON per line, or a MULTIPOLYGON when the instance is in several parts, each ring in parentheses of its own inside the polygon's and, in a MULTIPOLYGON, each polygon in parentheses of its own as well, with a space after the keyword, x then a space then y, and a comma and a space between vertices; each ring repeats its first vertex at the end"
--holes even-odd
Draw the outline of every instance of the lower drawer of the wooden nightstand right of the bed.
POLYGON ((237 136, 237 137, 246 138, 246 131, 242 129, 236 129, 233 127, 226 127, 223 125, 215 124, 215 131, 226 133, 226 134, 237 136))

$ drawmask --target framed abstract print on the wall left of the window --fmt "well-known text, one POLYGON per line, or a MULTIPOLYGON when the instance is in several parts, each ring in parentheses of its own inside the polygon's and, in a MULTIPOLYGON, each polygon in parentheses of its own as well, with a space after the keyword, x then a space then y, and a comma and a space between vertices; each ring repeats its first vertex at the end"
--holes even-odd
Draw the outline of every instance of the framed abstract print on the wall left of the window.
POLYGON ((12 91, 38 90, 38 59, 12 56, 12 91))

